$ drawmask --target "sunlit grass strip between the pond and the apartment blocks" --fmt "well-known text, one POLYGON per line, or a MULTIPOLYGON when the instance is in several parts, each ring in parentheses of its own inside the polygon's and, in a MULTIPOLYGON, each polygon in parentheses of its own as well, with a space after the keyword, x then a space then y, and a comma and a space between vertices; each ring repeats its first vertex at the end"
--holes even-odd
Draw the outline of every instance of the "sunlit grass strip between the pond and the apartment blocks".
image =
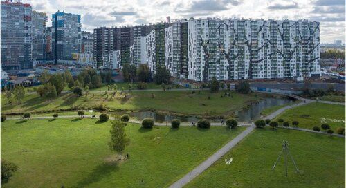
POLYGON ((112 97, 113 92, 89 94, 76 97, 73 93, 62 93, 60 97, 48 100, 37 94, 28 94, 21 104, 8 104, 6 97, 1 95, 1 111, 3 113, 44 112, 51 110, 93 109, 104 104, 111 110, 156 110, 173 113, 194 115, 216 115, 242 109, 246 104, 261 100, 265 95, 260 93, 239 94, 232 92, 233 97, 221 97, 223 92, 210 93, 209 91, 139 91, 125 93, 112 97), (154 98, 152 98, 152 94, 154 98), (94 95, 94 96, 93 96, 94 95), (210 96, 210 99, 208 99, 210 96))

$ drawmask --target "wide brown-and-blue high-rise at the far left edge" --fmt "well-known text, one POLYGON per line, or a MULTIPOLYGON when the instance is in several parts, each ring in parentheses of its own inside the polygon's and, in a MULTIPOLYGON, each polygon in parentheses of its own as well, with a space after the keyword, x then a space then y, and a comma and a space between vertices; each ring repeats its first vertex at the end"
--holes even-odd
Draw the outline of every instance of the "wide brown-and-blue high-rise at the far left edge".
POLYGON ((30 4, 1 1, 1 66, 4 71, 33 68, 30 4))

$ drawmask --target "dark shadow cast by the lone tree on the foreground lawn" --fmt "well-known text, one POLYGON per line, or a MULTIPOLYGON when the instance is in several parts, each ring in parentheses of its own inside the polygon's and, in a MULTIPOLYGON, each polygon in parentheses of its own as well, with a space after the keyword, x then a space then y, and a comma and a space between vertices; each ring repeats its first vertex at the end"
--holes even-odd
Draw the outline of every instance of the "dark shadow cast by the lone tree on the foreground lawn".
POLYGON ((80 180, 75 187, 88 187, 88 185, 94 182, 99 182, 100 180, 107 178, 111 172, 118 171, 118 169, 118 164, 107 164, 104 162, 95 167, 89 176, 80 180))

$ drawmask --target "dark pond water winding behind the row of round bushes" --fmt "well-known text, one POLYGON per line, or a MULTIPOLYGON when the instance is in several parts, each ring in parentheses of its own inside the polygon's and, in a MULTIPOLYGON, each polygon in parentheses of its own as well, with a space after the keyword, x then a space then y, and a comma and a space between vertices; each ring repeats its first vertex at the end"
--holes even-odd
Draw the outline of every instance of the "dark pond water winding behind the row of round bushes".
MULTIPOLYGON (((293 100, 285 99, 285 98, 266 98, 257 103, 251 104, 247 109, 242 109, 241 111, 237 111, 235 114, 237 115, 238 122, 251 122, 261 117, 260 113, 264 109, 271 106, 280 106, 284 104, 293 104, 293 100)), ((144 118, 154 118, 155 122, 171 122, 173 119, 179 119, 181 122, 197 122, 199 118, 196 116, 177 116, 177 115, 166 115, 163 113, 156 113, 152 111, 140 111, 133 112, 131 116, 134 116, 140 120, 144 118)), ((219 122, 221 119, 211 120, 212 122, 219 122)))

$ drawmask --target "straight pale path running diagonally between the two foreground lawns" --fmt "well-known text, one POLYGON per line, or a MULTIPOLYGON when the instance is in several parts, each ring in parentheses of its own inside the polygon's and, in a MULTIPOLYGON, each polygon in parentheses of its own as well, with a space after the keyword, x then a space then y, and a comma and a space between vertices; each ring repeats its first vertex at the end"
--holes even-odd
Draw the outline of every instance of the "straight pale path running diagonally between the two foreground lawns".
POLYGON ((194 168, 188 174, 183 176, 183 178, 181 178, 180 180, 178 180, 178 181, 174 182, 172 185, 170 185, 170 188, 183 187, 188 182, 190 182, 192 179, 199 176, 199 174, 201 174, 203 171, 208 169, 208 167, 210 167, 214 162, 219 160, 219 158, 224 156, 228 151, 230 151, 230 149, 232 149, 233 147, 235 147, 235 145, 237 145, 240 141, 242 141, 243 138, 246 137, 246 135, 248 135, 249 133, 251 133, 253 131, 253 129, 255 129, 254 126, 249 126, 248 128, 246 128, 245 131, 243 131, 242 133, 237 135, 237 137, 233 138, 233 140, 230 140, 230 142, 228 142, 226 145, 224 145, 224 147, 219 149, 216 153, 212 154, 212 156, 210 156, 207 160, 205 160, 204 162, 199 164, 196 168, 194 168))

